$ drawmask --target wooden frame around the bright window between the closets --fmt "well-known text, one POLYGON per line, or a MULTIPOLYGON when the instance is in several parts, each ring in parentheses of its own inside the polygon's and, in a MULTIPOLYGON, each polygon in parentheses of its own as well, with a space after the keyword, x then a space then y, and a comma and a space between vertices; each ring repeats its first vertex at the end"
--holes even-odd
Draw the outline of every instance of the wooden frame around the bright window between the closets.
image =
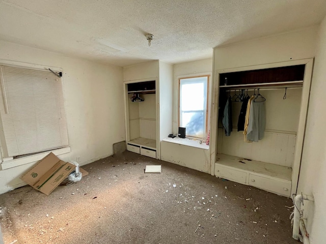
POLYGON ((180 127, 180 98, 181 98, 181 87, 180 87, 180 83, 181 80, 183 79, 192 79, 192 78, 200 78, 200 77, 207 77, 207 86, 206 86, 206 115, 205 115, 205 137, 196 137, 196 136, 192 136, 192 135, 187 135, 187 131, 186 131, 186 137, 190 137, 190 138, 206 138, 207 137, 207 133, 208 133, 208 109, 209 109, 209 79, 210 79, 211 74, 202 74, 202 75, 196 75, 196 76, 189 76, 189 75, 185 75, 185 76, 180 76, 178 77, 178 127, 180 127))

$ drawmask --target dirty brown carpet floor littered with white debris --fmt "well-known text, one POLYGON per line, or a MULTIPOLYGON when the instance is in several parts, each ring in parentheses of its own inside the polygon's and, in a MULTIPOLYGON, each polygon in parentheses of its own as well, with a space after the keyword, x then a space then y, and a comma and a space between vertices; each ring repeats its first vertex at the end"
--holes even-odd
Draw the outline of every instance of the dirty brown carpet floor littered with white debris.
POLYGON ((289 198, 128 151, 83 168, 49 196, 30 186, 0 195, 5 244, 297 243, 289 198))

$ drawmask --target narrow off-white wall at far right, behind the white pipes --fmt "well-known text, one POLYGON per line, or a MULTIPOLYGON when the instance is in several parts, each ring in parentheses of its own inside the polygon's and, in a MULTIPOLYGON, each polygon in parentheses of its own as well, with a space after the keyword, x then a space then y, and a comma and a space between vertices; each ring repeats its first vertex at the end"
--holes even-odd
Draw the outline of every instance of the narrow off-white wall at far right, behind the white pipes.
POLYGON ((306 136, 298 192, 313 195, 314 204, 305 201, 308 232, 313 244, 324 243, 326 229, 326 17, 317 37, 316 57, 311 83, 306 136), (313 218, 312 218, 313 217, 313 218))

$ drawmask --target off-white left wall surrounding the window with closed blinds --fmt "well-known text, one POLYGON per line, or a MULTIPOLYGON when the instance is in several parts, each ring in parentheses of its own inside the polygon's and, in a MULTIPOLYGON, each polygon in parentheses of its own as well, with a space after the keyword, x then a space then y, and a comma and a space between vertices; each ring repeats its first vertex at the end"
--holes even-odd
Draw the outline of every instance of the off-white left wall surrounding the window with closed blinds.
MULTIPOLYGON (((63 69, 71 153, 59 156, 84 165, 113 154, 125 140, 123 69, 0 41, 0 59, 63 69)), ((1 63, 1 60, 0 60, 1 63)), ((27 65, 27 64, 26 64, 27 65)), ((19 176, 33 163, 0 171, 0 193, 24 185, 19 176)))

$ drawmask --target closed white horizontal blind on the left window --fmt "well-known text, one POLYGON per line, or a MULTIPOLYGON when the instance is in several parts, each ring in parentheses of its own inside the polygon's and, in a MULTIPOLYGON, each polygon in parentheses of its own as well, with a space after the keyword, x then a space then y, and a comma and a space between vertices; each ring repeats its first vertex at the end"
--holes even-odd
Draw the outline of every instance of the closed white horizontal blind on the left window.
POLYGON ((48 70, 0 65, 4 156, 68 146, 61 78, 48 70))

